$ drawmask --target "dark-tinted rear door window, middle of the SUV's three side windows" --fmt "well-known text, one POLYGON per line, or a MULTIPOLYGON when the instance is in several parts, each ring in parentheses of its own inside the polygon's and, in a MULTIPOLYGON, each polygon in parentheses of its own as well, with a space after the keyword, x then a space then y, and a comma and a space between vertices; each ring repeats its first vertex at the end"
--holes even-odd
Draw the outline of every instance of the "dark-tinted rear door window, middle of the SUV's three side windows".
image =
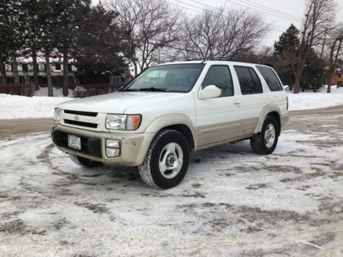
POLYGON ((261 81, 251 67, 235 66, 242 95, 263 93, 261 81))

